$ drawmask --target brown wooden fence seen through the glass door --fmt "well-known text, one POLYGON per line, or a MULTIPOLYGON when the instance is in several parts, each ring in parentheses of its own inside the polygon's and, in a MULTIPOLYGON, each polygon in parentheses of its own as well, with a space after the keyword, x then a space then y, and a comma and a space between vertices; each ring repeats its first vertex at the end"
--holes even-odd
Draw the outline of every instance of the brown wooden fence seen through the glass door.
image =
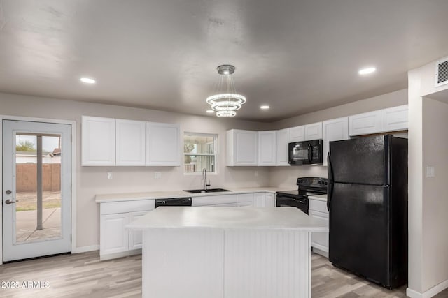
MULTIPOLYGON (((16 192, 36 191, 37 164, 16 164, 16 192)), ((61 164, 44 163, 42 165, 42 191, 61 190, 61 164)))

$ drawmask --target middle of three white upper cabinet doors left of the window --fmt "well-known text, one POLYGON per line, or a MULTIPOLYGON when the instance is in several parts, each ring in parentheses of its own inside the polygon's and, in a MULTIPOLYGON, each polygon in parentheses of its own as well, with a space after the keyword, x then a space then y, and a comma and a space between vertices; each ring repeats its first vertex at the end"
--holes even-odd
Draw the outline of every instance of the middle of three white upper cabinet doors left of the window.
POLYGON ((146 165, 146 122, 116 120, 116 165, 146 165))

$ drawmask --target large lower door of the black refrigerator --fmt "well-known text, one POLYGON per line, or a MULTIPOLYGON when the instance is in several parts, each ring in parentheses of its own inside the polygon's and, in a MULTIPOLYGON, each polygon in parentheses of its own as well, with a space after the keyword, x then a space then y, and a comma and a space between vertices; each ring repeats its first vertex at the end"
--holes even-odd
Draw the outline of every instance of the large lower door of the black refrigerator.
POLYGON ((330 204, 333 265, 389 285, 390 187, 335 183, 330 204))

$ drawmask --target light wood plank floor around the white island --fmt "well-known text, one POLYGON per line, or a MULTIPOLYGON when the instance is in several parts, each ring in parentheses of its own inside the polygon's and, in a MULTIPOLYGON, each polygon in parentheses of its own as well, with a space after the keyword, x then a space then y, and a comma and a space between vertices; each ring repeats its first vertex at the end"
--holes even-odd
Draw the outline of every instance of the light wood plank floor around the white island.
MULTIPOLYGON (((316 254, 312 256, 311 280, 313 298, 406 297, 405 286, 386 290, 332 267, 316 254)), ((94 251, 13 262, 0 265, 0 283, 0 297, 141 297, 141 255, 99 261, 98 251, 94 251), (10 288, 5 284, 8 281, 17 282, 19 288, 10 288)), ((435 297, 448 298, 448 290, 435 297)))

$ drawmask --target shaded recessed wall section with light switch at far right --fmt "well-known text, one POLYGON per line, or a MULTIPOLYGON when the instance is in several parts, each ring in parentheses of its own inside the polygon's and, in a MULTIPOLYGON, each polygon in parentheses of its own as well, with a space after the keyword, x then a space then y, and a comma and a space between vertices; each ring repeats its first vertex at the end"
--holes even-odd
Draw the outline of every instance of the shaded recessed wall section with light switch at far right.
MULTIPOLYGON (((448 97, 447 97, 448 100, 448 97)), ((448 279, 448 104, 423 99, 423 166, 435 177, 423 177, 423 290, 448 279)))

